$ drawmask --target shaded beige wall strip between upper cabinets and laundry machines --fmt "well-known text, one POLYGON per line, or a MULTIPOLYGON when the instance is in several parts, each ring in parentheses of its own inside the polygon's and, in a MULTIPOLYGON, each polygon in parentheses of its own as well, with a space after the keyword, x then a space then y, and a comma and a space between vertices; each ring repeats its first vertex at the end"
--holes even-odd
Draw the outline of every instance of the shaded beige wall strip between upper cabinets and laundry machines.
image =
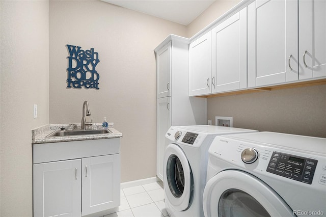
MULTIPOLYGON (((326 85, 207 99, 207 119, 233 126, 326 138, 326 85)), ((308 145, 308 144, 307 144, 308 145)))

